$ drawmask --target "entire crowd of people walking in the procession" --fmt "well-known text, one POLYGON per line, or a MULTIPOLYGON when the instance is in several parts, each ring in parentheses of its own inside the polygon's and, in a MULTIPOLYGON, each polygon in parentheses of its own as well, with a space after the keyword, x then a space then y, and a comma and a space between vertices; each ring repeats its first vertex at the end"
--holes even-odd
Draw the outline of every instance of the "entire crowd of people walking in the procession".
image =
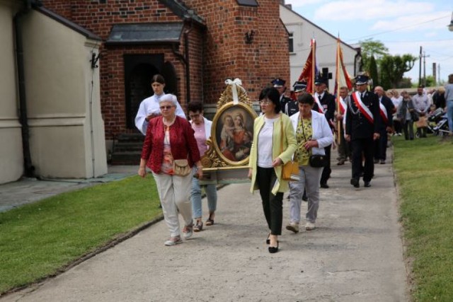
MULTIPOLYGON (((316 227, 319 210, 319 189, 328 189, 331 175, 331 151, 336 144, 338 165, 352 163, 350 184, 371 186, 374 164, 386 163, 389 134, 414 139, 426 137, 425 120, 430 111, 445 108, 449 131, 453 132, 453 74, 445 88, 426 93, 419 87, 411 97, 407 91, 384 91, 381 86, 368 91, 369 79, 355 77, 355 90, 339 88, 338 105, 328 93, 326 80, 314 81, 314 93, 306 93, 306 83, 294 83, 292 98, 286 94, 285 81, 275 79, 259 95, 261 114, 253 121, 253 133, 246 129, 241 112, 222 117, 219 149, 231 161, 248 158, 251 192, 259 191, 268 236, 268 251, 279 250, 282 234, 282 200, 289 191, 288 231, 299 232, 302 200, 307 202, 305 230, 316 227), (434 108, 432 108, 434 106, 434 108), (334 139, 338 137, 338 139, 334 139), (335 142, 336 141, 336 142, 335 142), (319 159, 321 158, 321 159, 319 159), (282 178, 286 163, 299 166, 298 180, 282 178)), ((165 80, 153 76, 154 95, 142 101, 135 124, 145 135, 138 174, 147 175, 147 167, 156 182, 164 220, 170 232, 165 245, 181 243, 178 214, 183 217, 184 238, 214 224, 217 209, 215 184, 201 185, 201 157, 207 152, 212 122, 204 117, 200 102, 188 104, 188 121, 175 95, 164 93, 165 80), (209 214, 202 221, 202 187, 207 196, 209 214), (195 224, 194 222, 195 221, 195 224)))

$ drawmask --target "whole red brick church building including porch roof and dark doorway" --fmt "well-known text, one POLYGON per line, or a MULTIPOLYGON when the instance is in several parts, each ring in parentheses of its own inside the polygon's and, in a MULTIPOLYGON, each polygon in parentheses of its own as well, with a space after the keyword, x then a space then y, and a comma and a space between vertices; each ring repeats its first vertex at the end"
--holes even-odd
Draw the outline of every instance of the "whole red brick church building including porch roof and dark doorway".
POLYGON ((183 108, 217 103, 239 78, 252 100, 275 77, 289 79, 287 30, 276 0, 42 0, 102 38, 105 138, 136 133, 134 116, 163 74, 183 108))

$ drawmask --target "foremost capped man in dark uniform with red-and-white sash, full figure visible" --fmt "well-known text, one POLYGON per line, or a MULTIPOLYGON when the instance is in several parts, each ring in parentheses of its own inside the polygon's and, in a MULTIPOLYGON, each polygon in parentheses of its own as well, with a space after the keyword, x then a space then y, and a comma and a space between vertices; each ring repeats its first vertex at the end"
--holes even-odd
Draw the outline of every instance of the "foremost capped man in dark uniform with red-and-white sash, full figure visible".
POLYGON ((374 141, 379 139, 379 99, 377 95, 367 91, 368 76, 356 76, 357 91, 348 96, 348 111, 346 113, 345 139, 352 145, 352 179, 351 185, 360 187, 360 170, 362 153, 365 156, 363 181, 365 187, 371 187, 374 173, 374 141))

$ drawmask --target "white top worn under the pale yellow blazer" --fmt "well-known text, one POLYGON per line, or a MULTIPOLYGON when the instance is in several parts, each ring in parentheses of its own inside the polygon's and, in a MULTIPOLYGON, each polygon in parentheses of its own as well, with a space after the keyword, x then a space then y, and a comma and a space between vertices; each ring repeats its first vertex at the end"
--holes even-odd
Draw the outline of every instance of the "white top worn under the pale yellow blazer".
POLYGON ((274 123, 279 119, 280 117, 275 119, 264 117, 264 125, 258 133, 258 167, 272 168, 274 123))

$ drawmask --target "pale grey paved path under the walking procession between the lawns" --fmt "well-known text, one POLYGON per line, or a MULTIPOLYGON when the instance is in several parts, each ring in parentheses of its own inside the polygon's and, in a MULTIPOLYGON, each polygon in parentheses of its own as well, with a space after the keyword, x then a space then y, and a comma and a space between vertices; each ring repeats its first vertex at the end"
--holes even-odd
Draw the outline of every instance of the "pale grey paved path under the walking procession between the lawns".
MULTIPOLYGON (((375 175, 371 188, 354 189, 350 164, 334 165, 316 230, 284 229, 276 254, 265 245, 258 194, 229 185, 214 226, 183 244, 164 246, 161 221, 0 301, 408 301, 391 165, 375 175)), ((284 224, 287 217, 285 202, 284 224)))

